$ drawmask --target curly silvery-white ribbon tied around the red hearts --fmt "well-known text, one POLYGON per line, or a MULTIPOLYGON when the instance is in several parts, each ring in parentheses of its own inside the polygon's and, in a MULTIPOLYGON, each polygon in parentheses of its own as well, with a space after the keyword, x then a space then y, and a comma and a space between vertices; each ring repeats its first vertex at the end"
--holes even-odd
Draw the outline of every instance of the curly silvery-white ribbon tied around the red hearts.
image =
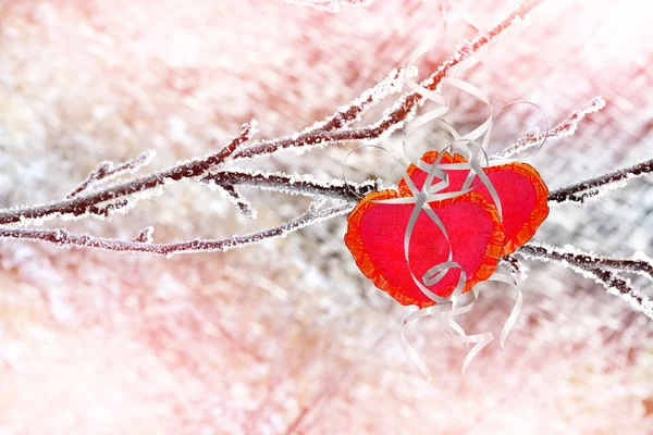
MULTIPOLYGON (((427 42, 424 42, 420 47, 418 47, 408 57, 408 61, 405 64, 404 72, 416 70, 416 67, 414 66, 414 63, 434 45, 434 40, 438 39, 439 37, 441 37, 446 29, 446 18, 444 15, 444 10, 439 2, 436 2, 436 5, 438 5, 438 10, 442 16, 442 20, 441 20, 440 24, 438 25, 436 29, 434 30, 434 34, 432 35, 432 37, 428 38, 427 42)), ((453 197, 457 197, 457 196, 467 194, 469 191, 472 191, 475 188, 477 188, 479 185, 482 184, 489 191, 489 194, 494 202, 494 206, 497 210, 498 216, 503 222, 503 211, 502 211, 501 200, 498 198, 496 189, 494 188, 491 181, 488 178, 488 176, 485 175, 485 172, 483 171, 483 167, 489 166, 489 161, 491 159, 491 157, 488 156, 488 148, 489 148, 489 144, 490 144, 492 128, 493 128, 494 124, 496 123, 496 121, 501 117, 502 114, 505 113, 505 111, 508 108, 510 108, 515 104, 518 104, 518 103, 527 103, 527 104, 530 104, 530 105, 534 107, 535 109, 538 109, 542 113, 542 116, 546 123, 546 116, 544 115, 543 111, 537 104, 533 104, 528 101, 514 101, 512 103, 508 103, 501 109, 501 111, 498 112, 498 114, 496 116, 493 116, 493 114, 492 114, 493 107, 492 107, 490 97, 486 94, 484 94, 483 91, 481 91, 479 88, 477 88, 476 86, 473 86, 460 78, 454 77, 454 75, 458 75, 458 74, 463 73, 464 71, 469 70, 472 65, 480 62, 480 60, 481 60, 481 55, 479 54, 479 52, 471 54, 466 60, 459 62, 457 65, 449 69, 446 73, 446 76, 442 80, 442 84, 447 83, 448 85, 452 85, 452 86, 471 95, 477 100, 479 100, 479 101, 483 102, 485 105, 488 105, 488 108, 490 109, 490 114, 485 119, 485 121, 483 121, 479 126, 477 126, 471 132, 469 132, 465 135, 460 135, 451 124, 448 124, 442 120, 442 116, 444 114, 446 114, 449 109, 448 100, 447 100, 447 98, 445 98, 442 95, 442 90, 441 89, 435 89, 435 90, 428 89, 428 88, 423 87, 422 85, 418 84, 417 82, 412 80, 410 75, 408 75, 406 73, 404 74, 404 84, 423 98, 421 104, 423 104, 426 101, 430 101, 430 102, 438 104, 438 107, 435 107, 434 109, 428 111, 424 114, 416 116, 415 119, 411 120, 411 122, 409 122, 408 124, 406 124, 404 126, 404 139, 403 139, 404 154, 412 164, 415 164, 416 166, 418 166, 419 169, 424 171, 428 175, 427 175, 427 179, 426 179, 424 184, 422 185, 422 188, 418 189, 416 187, 415 183, 412 182, 412 179, 410 178, 410 176, 406 173, 404 175, 404 181, 406 182, 406 185, 409 187, 411 196, 374 201, 374 202, 390 203, 390 204, 406 204, 406 203, 414 204, 414 208, 412 208, 412 211, 411 211, 411 214, 410 214, 410 217, 409 217, 406 231, 405 231, 405 235, 404 235, 404 257, 405 257, 406 263, 408 265, 410 276, 412 277, 412 281, 415 282, 415 284, 419 287, 419 289, 422 291, 423 295, 426 295, 429 299, 434 301, 436 304, 432 306, 432 307, 419 309, 419 310, 414 311, 410 314, 408 314, 403 321, 401 338, 402 338, 402 345, 403 345, 407 356, 418 366, 418 369, 421 371, 421 373, 428 380, 429 383, 431 383, 431 380, 432 380, 431 373, 430 373, 427 364, 419 357, 417 351, 412 348, 412 346, 410 345, 410 343, 408 341, 408 339, 406 338, 406 335, 405 335, 405 328, 410 323, 416 322, 419 319, 422 319, 426 316, 435 318, 436 320, 439 320, 442 323, 444 331, 449 335, 449 337, 452 338, 452 340, 454 343, 465 344, 468 346, 468 348, 470 345, 472 345, 471 349, 469 349, 469 351, 465 358, 465 361, 463 362, 461 373, 464 376, 467 371, 467 368, 469 366, 469 364, 473 360, 473 358, 485 346, 488 346, 490 343, 492 343, 495 338, 494 334, 492 332, 484 332, 484 333, 468 335, 468 334, 466 334, 465 330, 460 326, 460 324, 456 320, 457 318, 470 312, 473 309, 473 306, 480 296, 480 290, 479 290, 478 286, 472 287, 471 288, 471 294, 472 294, 471 300, 464 304, 459 303, 463 290, 465 288, 467 273, 457 262, 453 261, 453 249, 452 249, 452 244, 451 244, 448 234, 446 232, 446 228, 444 227, 444 224, 442 223, 442 221, 440 220, 440 217, 438 216, 435 211, 429 206, 429 202, 448 199, 448 198, 453 198, 453 197), (415 157, 415 156, 410 154, 410 152, 406 146, 406 139, 411 134, 414 134, 418 128, 422 127, 423 125, 426 125, 428 123, 436 123, 436 124, 443 126, 445 128, 445 130, 452 135, 454 140, 445 148, 445 150, 451 149, 452 153, 454 152, 454 150, 456 150, 456 152, 458 152, 458 153, 463 154, 463 157, 465 157, 466 162, 464 162, 464 163, 441 163, 441 159, 443 157, 443 153, 441 152, 441 153, 439 153, 435 162, 426 163, 426 162, 421 161, 421 159, 419 159, 419 157, 415 157), (483 160, 484 160, 484 162, 483 162, 483 160), (447 187, 449 186, 449 183, 448 183, 448 174, 445 170, 468 171, 468 175, 465 179, 465 183, 463 184, 463 187, 459 190, 446 191, 447 187), (433 182, 436 178, 439 179, 439 182, 433 184, 433 182), (475 184, 475 181, 477 181, 477 179, 478 179, 478 182, 475 184), (421 276, 421 278, 418 278, 412 273, 408 252, 410 250, 411 235, 415 229, 416 222, 421 212, 424 212, 431 219, 431 221, 433 223, 435 223, 435 225, 439 227, 440 232, 444 236, 446 243, 448 244, 448 257, 447 257, 446 261, 444 261, 440 264, 433 265, 421 276), (443 298, 441 296, 438 296, 436 294, 434 294, 433 291, 431 291, 428 288, 429 286, 432 286, 432 285, 439 283, 442 278, 444 278, 444 276, 448 273, 449 270, 455 270, 455 269, 458 269, 460 271, 460 276, 459 276, 458 283, 451 296, 443 298)), ((547 130, 547 125, 546 125, 546 130, 547 130)), ((546 138, 546 135, 544 135, 544 140, 545 140, 545 138, 546 138)), ((542 141, 542 144, 540 144, 539 147, 537 147, 537 149, 534 151, 537 151, 539 148, 541 148, 543 146, 543 144, 544 144, 544 141, 542 141)), ((349 152, 349 154, 347 154, 347 158, 345 159, 345 161, 349 158, 349 156, 353 152, 355 152, 359 148, 364 148, 364 147, 379 148, 379 149, 382 149, 385 152, 387 152, 387 150, 385 150, 381 146, 372 145, 372 144, 369 144, 369 145, 364 144, 360 147, 353 150, 352 152, 349 152)), ((534 147, 531 146, 530 148, 534 148, 534 147)), ((534 151, 531 151, 531 152, 534 152, 534 151)), ((530 156, 530 153, 529 153, 529 156, 530 156)), ((494 158, 494 156, 492 158, 494 158)), ((398 164, 401 164, 396 158, 393 157, 393 159, 398 164)), ((502 162, 510 162, 510 161, 517 161, 517 159, 502 158, 501 161, 502 162)), ((344 170, 343 170, 343 177, 346 181, 344 170)), ((510 287, 514 287, 516 290, 515 291, 516 293, 515 304, 513 306, 510 314, 503 326, 503 330, 501 333, 501 338, 500 338, 501 346, 505 347, 507 337, 508 337, 510 331, 513 330, 513 327, 515 326, 515 323, 517 322, 517 319, 518 319, 520 310, 521 310, 522 300, 523 300, 521 289, 519 287, 519 284, 521 282, 520 282, 519 277, 510 275, 509 272, 506 272, 506 273, 495 272, 490 278, 488 278, 488 281, 506 284, 510 287)))

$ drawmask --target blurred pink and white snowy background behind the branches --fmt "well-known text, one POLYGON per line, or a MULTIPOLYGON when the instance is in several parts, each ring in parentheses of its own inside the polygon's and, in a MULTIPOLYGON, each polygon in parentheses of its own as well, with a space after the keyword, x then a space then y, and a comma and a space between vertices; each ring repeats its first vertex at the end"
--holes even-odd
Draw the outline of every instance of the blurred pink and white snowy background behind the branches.
MULTIPOLYGON (((426 75, 514 3, 456 1, 426 75), (479 7, 479 4, 483 7, 479 7)), ((531 162, 550 187, 653 153, 651 7, 552 0, 495 44, 465 79, 495 108, 539 104, 550 124, 603 96, 606 109, 531 162), (646 9, 648 8, 648 9, 646 9)), ((429 2, 377 0, 329 13, 272 0, 0 1, 0 206, 74 189, 103 160, 157 151, 153 169, 217 150, 252 117, 259 137, 332 113, 401 66, 440 18, 429 2)), ((451 90, 461 130, 486 109, 451 90)), ((373 120, 372 114, 372 120, 373 120)), ((519 123, 497 124, 508 142, 519 123)), ((401 156, 396 138, 384 146, 401 156)), ((354 146, 249 162, 342 176, 354 146)), ((355 158, 355 179, 397 172, 355 158)), ((535 238, 613 256, 653 256, 653 178, 587 206, 560 206, 535 238)), ((221 238, 298 215, 306 198, 243 190, 248 221, 215 192, 178 184, 110 222, 69 228, 157 241, 221 238)), ((653 323, 593 282, 529 263, 505 350, 465 382, 465 349, 433 321, 399 343, 409 311, 377 290, 335 219, 226 253, 173 259, 0 243, 0 434, 650 434, 653 323)), ((651 288, 641 287, 651 295, 651 288)), ((484 291, 471 324, 501 330, 512 308, 484 291)))

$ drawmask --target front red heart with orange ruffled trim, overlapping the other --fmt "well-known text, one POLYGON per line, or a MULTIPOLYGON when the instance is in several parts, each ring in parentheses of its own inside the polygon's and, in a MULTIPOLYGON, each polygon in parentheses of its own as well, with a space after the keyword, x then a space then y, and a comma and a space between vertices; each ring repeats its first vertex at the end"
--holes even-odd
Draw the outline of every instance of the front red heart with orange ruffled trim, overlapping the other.
MULTIPOLYGON (((410 238, 409 270, 404 237, 415 204, 375 202, 392 198, 399 198, 399 194, 373 191, 362 198, 347 219, 345 244, 361 272, 381 290, 402 304, 432 306, 434 302, 415 284, 410 271, 421 282, 429 269, 447 261, 449 244, 431 217, 420 211, 410 238)), ((453 261, 467 273, 464 293, 468 291, 496 269, 504 241, 496 208, 473 191, 429 206, 446 228, 453 261)), ((442 281, 427 288, 448 297, 459 276, 460 270, 452 269, 442 281)))

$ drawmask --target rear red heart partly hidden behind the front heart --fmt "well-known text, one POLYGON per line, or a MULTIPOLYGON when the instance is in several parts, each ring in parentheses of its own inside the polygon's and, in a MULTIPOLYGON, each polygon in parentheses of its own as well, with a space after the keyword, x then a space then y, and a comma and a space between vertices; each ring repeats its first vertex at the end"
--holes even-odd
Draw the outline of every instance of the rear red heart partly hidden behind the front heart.
MULTIPOLYGON (((436 158, 438 151, 428 151, 421 160, 433 163, 436 158)), ((441 163, 463 162, 467 162, 463 156, 455 154, 452 158, 447 152, 442 156, 441 160, 441 163)), ((448 174, 449 186, 443 191, 460 190, 468 171, 444 171, 448 174)), ((549 215, 549 189, 538 171, 527 163, 500 164, 485 167, 483 171, 488 174, 488 178, 490 178, 501 200, 503 225, 506 232, 502 254, 505 256, 530 240, 549 215)), ((421 189, 427 173, 412 164, 408 166, 406 173, 416 187, 421 189)), ((440 178, 433 179, 433 184, 438 182, 440 182, 440 178)), ((479 183, 478 177, 473 181, 473 184, 477 183, 479 183)), ((482 195, 488 202, 494 203, 485 185, 479 184, 473 191, 482 195)), ((410 189, 404 179, 399 182, 399 192, 402 196, 411 196, 410 189)))

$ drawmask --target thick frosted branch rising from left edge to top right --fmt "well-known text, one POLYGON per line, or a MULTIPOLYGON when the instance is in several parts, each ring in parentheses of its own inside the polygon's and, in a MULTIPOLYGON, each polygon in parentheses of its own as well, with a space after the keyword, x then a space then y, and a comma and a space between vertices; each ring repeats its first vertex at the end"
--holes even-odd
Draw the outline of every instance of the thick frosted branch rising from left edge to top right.
MULTIPOLYGON (((473 44, 465 45, 460 48, 455 55, 445 61, 436 72, 434 72, 428 79, 422 82, 422 86, 429 89, 435 89, 439 84, 446 77, 449 69, 465 59, 469 58, 472 53, 480 50, 482 47, 490 44, 501 33, 510 27, 510 25, 518 21, 517 18, 526 14, 533 4, 521 5, 515 12, 508 15, 503 22, 491 29, 485 36, 477 39, 473 44)), ((192 159, 186 162, 181 162, 171 169, 153 173, 140 178, 136 178, 130 182, 109 186, 98 191, 87 192, 87 187, 90 186, 95 181, 99 179, 101 175, 109 171, 108 165, 103 165, 101 171, 96 171, 95 175, 88 177, 88 183, 84 187, 76 191, 72 197, 69 197, 62 201, 53 202, 46 206, 24 207, 14 208, 9 210, 0 210, 0 225, 12 224, 12 223, 41 223, 45 220, 54 217, 64 219, 78 219, 86 215, 99 215, 98 208, 107 202, 113 202, 120 198, 126 198, 130 201, 130 206, 144 198, 150 198, 159 195, 160 190, 164 185, 180 182, 183 179, 202 179, 214 172, 220 165, 224 164, 229 159, 247 159, 252 157, 269 156, 283 149, 289 148, 301 148, 308 149, 311 146, 325 145, 337 141, 346 140, 364 140, 380 138, 382 135, 390 133, 392 128, 401 125, 404 121, 415 112, 417 104, 422 100, 418 94, 408 94, 399 99, 395 108, 391 110, 386 116, 384 116, 378 123, 357 129, 337 129, 340 126, 347 125, 354 122, 365 112, 368 107, 368 101, 373 102, 375 96, 383 97, 384 94, 391 92, 396 87, 396 79, 401 78, 401 73, 397 71, 391 73, 391 75, 382 82, 380 85, 372 88, 372 90, 364 94, 359 99, 355 100, 354 105, 346 110, 336 112, 333 119, 328 120, 321 127, 316 129, 309 128, 306 133, 298 133, 288 138, 275 139, 270 141, 260 141, 250 147, 243 147, 243 145, 250 139, 255 133, 256 123, 252 121, 250 124, 244 124, 238 137, 233 139, 223 149, 217 153, 209 154, 201 159, 192 159), (85 195, 78 195, 84 191, 85 195)), ((234 175, 235 176, 235 175, 234 175)), ((267 186, 270 188, 280 188, 280 184, 273 185, 272 182, 261 179, 257 175, 250 175, 249 179, 244 175, 241 175, 243 183, 249 181, 254 184, 267 186)), ((337 186, 324 186, 312 181, 300 181, 299 183, 291 183, 291 179, 284 182, 288 187, 284 188, 286 191, 300 191, 300 192, 316 192, 318 195, 329 194, 353 201, 362 195, 358 195, 356 188, 352 189, 350 186, 340 184, 337 186), (355 192, 355 194, 354 194, 355 192), (354 195, 353 195, 354 194, 354 195)), ((223 183, 225 185, 236 185, 238 183, 230 182, 223 183)), ((367 185, 369 186, 369 185, 367 185)), ((360 187, 367 187, 360 186, 360 187)))

